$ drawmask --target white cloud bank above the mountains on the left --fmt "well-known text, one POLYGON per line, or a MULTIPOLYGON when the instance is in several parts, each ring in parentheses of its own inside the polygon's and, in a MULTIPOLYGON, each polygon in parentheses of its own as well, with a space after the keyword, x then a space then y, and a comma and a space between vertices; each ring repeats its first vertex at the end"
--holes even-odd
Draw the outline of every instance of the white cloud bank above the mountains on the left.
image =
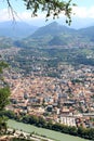
POLYGON ((39 13, 38 16, 31 17, 30 11, 24 11, 24 12, 14 12, 14 15, 12 15, 12 12, 8 9, 0 10, 0 22, 11 21, 13 20, 13 16, 16 21, 25 21, 25 22, 32 22, 39 24, 40 22, 45 22, 45 14, 39 13))

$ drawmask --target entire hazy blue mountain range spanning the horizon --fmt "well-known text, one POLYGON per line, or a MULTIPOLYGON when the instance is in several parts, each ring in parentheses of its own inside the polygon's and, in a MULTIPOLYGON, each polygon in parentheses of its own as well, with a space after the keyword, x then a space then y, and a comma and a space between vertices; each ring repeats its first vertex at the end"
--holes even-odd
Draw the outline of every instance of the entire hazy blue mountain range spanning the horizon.
POLYGON ((10 23, 5 23, 5 25, 0 24, 0 35, 1 33, 4 33, 4 36, 14 38, 14 46, 17 47, 70 48, 94 46, 94 26, 77 30, 53 22, 46 26, 37 29, 37 27, 31 27, 26 23, 16 23, 15 27, 13 27, 14 25, 11 25, 13 28, 16 28, 16 33, 14 36, 12 35, 13 29, 8 28, 9 24, 10 23), (21 39, 21 37, 24 38, 21 39))

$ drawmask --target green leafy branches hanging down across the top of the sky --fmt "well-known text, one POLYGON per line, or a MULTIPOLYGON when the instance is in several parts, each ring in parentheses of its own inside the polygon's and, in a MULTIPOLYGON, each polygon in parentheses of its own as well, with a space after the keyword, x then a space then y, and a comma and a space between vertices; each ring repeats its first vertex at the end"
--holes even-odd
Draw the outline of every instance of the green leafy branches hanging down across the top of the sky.
MULTIPOLYGON (((71 11, 72 0, 65 2, 64 0, 23 0, 25 2, 26 9, 31 10, 31 16, 38 16, 38 12, 45 12, 45 17, 53 16, 53 18, 58 17, 61 13, 66 15, 66 23, 71 23, 71 11)), ((13 7, 11 0, 6 0, 8 5, 13 14, 13 7)), ((16 1, 17 2, 17 1, 16 1)))

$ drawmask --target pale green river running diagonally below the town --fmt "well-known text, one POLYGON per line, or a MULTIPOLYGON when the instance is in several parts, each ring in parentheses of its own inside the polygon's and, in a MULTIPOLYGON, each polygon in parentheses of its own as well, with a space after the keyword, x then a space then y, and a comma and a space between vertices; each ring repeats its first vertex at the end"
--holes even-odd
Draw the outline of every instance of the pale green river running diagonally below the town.
POLYGON ((61 133, 57 131, 53 131, 53 130, 49 130, 49 129, 44 129, 44 128, 39 128, 32 125, 28 125, 28 124, 23 124, 23 123, 18 123, 12 119, 8 120, 8 126, 10 128, 14 128, 14 129, 18 129, 18 130, 23 130, 26 132, 36 132, 40 136, 45 136, 48 138, 54 139, 55 141, 89 141, 79 137, 73 137, 73 136, 69 136, 69 134, 65 134, 65 133, 61 133))

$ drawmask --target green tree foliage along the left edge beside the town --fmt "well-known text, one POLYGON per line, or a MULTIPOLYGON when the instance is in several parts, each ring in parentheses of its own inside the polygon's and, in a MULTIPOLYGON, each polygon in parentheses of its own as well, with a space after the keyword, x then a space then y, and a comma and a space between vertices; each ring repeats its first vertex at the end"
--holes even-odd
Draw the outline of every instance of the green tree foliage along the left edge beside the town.
MULTIPOLYGON (((2 77, 3 69, 8 67, 8 64, 3 61, 0 61, 0 114, 3 108, 9 104, 10 88, 2 77)), ((4 133, 6 131, 6 118, 1 114, 0 115, 0 132, 4 133)))

